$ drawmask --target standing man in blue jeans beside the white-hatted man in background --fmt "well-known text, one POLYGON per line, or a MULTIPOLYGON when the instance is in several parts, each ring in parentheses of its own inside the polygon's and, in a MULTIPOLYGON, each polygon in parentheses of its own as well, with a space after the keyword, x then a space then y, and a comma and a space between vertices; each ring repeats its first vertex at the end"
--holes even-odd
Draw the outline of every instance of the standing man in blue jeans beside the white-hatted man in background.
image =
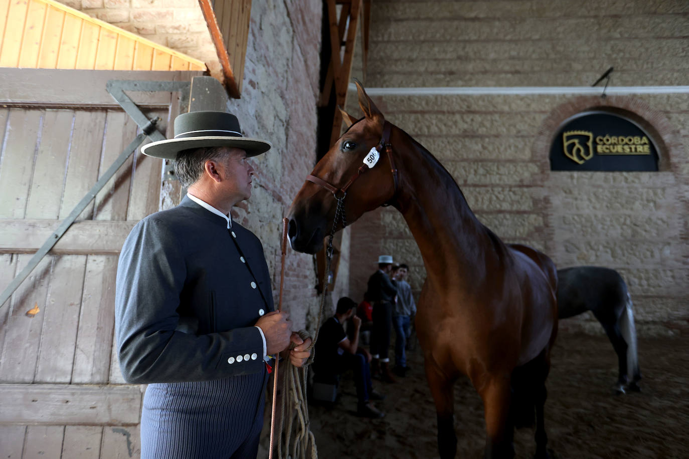
POLYGON ((398 376, 407 376, 409 367, 407 366, 407 338, 409 338, 409 327, 412 318, 416 315, 416 303, 411 295, 411 286, 404 279, 409 273, 409 266, 402 263, 393 271, 393 279, 397 286, 397 303, 392 316, 392 323, 395 327, 395 368, 393 371, 398 376))

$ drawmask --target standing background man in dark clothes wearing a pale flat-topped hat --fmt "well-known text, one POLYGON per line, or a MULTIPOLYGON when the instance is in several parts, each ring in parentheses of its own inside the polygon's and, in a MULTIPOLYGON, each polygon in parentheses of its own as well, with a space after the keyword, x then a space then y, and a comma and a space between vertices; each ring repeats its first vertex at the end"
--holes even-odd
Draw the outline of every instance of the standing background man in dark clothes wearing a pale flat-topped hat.
POLYGON ((371 374, 379 376, 387 383, 394 383, 390 370, 388 351, 392 330, 392 311, 397 288, 390 279, 393 260, 391 255, 378 257, 378 270, 369 277, 366 292, 373 303, 373 330, 371 330, 371 374))

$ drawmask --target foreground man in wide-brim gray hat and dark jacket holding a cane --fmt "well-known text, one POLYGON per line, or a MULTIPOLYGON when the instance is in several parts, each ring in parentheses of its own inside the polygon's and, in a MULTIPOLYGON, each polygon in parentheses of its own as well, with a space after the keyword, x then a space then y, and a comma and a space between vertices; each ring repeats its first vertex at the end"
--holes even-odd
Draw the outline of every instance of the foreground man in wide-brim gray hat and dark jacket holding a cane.
POLYGON ((294 365, 310 354, 274 310, 258 237, 230 217, 251 196, 249 158, 271 145, 221 111, 182 114, 174 132, 141 151, 175 160, 187 195, 134 226, 117 268, 120 367, 148 384, 141 457, 255 458, 271 357, 290 341, 294 365))

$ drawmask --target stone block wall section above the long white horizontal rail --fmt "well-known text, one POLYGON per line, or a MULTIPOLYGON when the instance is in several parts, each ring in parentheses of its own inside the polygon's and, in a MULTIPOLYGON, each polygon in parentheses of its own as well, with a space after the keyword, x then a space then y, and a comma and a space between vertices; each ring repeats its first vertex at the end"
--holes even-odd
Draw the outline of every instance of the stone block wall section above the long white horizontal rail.
POLYGON ((684 0, 378 0, 371 87, 686 85, 684 0))

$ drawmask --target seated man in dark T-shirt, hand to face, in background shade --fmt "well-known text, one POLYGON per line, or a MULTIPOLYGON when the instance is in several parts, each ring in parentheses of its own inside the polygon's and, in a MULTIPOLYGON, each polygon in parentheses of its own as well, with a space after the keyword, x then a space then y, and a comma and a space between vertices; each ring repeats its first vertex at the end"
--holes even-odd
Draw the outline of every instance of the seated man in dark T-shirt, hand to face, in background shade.
POLYGON ((354 371, 356 395, 359 399, 358 414, 369 418, 382 418, 385 414, 376 408, 371 400, 382 400, 384 396, 371 387, 371 354, 358 347, 361 319, 355 312, 356 303, 352 299, 340 298, 335 315, 325 321, 318 332, 313 371, 320 376, 341 374, 351 368, 354 371), (350 318, 354 325, 351 340, 347 338, 342 326, 350 318))

